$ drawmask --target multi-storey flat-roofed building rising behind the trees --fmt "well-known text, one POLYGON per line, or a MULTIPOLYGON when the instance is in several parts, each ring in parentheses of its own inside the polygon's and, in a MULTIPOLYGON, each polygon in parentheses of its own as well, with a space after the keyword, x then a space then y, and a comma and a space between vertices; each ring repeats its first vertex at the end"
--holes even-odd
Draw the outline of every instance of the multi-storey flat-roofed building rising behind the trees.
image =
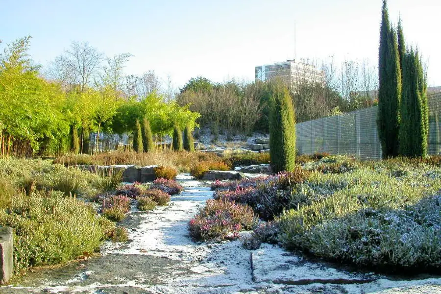
POLYGON ((302 82, 320 84, 322 86, 326 84, 324 71, 319 70, 313 65, 296 62, 295 60, 255 67, 256 80, 268 81, 276 77, 286 82, 290 88, 302 82))

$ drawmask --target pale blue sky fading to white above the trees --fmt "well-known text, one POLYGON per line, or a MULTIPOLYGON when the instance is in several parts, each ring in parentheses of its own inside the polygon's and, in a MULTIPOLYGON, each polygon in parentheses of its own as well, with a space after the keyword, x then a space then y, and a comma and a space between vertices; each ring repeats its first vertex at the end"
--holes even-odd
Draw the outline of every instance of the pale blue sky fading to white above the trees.
MULTIPOLYGON (((29 53, 47 65, 73 41, 112 57, 134 56, 124 72, 154 70, 182 87, 190 78, 254 79, 254 67, 287 59, 377 63, 382 0, 0 0, 0 39, 32 36, 29 53), (294 37, 295 36, 295 37, 294 37), (295 40, 295 42, 294 42, 295 40)), ((441 86, 441 1, 389 0, 406 41, 441 86)), ((1 47, 1 45, 0 45, 1 47)))

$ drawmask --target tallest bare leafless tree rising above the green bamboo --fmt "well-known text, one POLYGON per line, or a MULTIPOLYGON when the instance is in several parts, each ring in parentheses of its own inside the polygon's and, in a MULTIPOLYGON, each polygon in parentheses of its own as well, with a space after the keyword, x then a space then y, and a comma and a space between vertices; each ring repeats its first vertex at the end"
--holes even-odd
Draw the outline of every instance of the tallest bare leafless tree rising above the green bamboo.
POLYGON ((92 77, 97 75, 103 54, 87 42, 72 42, 71 48, 66 53, 69 65, 75 73, 75 83, 83 90, 91 82, 92 77))

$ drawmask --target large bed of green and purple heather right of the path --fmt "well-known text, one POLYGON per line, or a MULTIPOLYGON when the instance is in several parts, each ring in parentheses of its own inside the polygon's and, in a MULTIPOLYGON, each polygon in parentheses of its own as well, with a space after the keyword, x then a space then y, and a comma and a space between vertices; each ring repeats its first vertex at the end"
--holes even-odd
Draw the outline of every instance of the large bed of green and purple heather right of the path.
POLYGON ((277 242, 364 267, 440 269, 440 156, 365 162, 309 156, 294 174, 216 181, 211 188, 217 201, 274 218, 255 228, 249 248, 277 242))

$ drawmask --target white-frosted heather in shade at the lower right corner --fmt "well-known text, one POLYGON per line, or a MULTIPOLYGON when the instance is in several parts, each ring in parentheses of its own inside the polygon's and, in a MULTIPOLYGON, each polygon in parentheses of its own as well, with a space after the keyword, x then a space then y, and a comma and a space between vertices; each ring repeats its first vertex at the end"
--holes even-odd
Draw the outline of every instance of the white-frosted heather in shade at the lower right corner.
POLYGON ((441 196, 404 210, 360 210, 316 225, 302 247, 329 259, 388 269, 441 268, 441 196))

